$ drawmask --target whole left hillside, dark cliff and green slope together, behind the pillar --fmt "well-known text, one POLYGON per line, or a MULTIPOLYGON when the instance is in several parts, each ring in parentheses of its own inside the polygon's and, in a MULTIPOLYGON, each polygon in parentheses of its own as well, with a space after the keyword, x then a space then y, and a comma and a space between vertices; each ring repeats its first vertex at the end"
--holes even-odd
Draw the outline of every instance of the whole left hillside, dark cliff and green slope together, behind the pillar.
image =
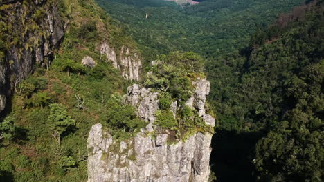
MULTIPOLYGON (((127 70, 124 75, 120 72, 125 66, 123 59, 141 59, 137 44, 93 1, 1 1, 1 26, 3 22, 10 25, 12 19, 3 15, 12 14, 19 17, 16 24, 10 25, 12 30, 27 29, 30 34, 36 34, 37 28, 51 30, 44 16, 47 8, 59 10, 53 18, 62 19, 65 28, 64 39, 51 50, 51 56, 45 61, 35 61, 33 56, 24 59, 28 58, 26 50, 33 53, 35 48, 22 41, 17 42, 23 44, 22 48, 8 43, 1 54, 10 68, 30 61, 30 70, 21 79, 10 79, 10 102, 1 112, 0 181, 87 181, 87 134, 91 125, 107 123, 106 102, 111 94, 125 92, 127 81, 123 76, 129 74, 127 70), (35 22, 32 27, 25 27, 21 23, 24 19, 12 6, 21 6, 21 12, 30 17, 40 15, 36 21, 30 20, 35 22), (8 52, 15 46, 22 50, 21 59, 11 62, 8 52), (107 46, 116 52, 118 67, 108 60, 107 46), (82 65, 85 57, 90 57, 90 63, 93 60, 96 66, 82 65)), ((10 30, 3 30, 1 39, 15 38, 8 34, 10 30)), ((24 37, 19 32, 17 36, 24 37)), ((12 69, 12 73, 19 70, 12 69)))

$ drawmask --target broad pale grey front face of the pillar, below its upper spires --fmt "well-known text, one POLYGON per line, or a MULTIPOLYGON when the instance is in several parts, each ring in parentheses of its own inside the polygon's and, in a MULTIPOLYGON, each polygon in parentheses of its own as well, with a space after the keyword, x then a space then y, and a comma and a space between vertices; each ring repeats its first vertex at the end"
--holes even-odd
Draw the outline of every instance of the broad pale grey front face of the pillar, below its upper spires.
POLYGON ((199 132, 185 143, 168 145, 168 134, 154 139, 139 133, 118 144, 101 124, 93 125, 87 143, 88 182, 206 182, 211 137, 199 132))

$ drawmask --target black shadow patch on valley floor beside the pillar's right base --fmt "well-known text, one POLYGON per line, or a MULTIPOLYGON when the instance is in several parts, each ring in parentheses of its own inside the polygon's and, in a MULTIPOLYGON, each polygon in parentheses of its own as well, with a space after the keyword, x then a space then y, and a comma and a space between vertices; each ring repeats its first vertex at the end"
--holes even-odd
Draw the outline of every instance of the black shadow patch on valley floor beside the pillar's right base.
POLYGON ((212 139, 211 170, 217 182, 255 181, 252 160, 260 132, 237 133, 218 130, 212 139))

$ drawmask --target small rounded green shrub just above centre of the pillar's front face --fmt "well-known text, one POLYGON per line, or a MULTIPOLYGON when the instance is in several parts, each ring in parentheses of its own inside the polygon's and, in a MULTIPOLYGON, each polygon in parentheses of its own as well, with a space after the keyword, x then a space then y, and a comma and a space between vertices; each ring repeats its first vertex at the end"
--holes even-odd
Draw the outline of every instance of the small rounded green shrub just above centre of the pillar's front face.
POLYGON ((172 129, 177 126, 177 120, 173 117, 173 112, 170 110, 159 110, 155 114, 156 116, 156 124, 161 126, 162 128, 172 129))

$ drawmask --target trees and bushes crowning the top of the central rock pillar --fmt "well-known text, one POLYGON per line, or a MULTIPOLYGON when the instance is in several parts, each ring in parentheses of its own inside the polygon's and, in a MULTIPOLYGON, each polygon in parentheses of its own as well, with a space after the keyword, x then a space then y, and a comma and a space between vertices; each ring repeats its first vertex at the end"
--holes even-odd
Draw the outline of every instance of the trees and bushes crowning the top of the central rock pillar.
POLYGON ((193 52, 171 52, 161 55, 147 69, 143 85, 159 92, 155 123, 162 130, 171 131, 169 139, 185 141, 196 132, 213 133, 213 128, 202 121, 197 110, 186 105, 186 101, 195 94, 195 81, 205 77, 204 59, 193 52), (177 108, 173 106, 172 110, 172 103, 177 104, 177 108))

